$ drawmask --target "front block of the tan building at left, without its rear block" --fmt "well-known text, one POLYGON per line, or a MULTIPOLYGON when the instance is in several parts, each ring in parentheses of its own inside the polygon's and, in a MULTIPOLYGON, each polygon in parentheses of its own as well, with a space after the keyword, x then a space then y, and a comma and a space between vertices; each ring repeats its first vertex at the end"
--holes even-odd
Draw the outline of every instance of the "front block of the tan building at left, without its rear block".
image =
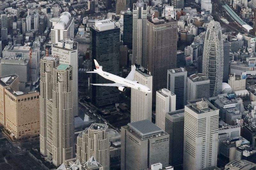
POLYGON ((5 129, 11 137, 20 139, 39 135, 39 92, 24 93, 8 87, 4 94, 4 108, 5 129))

